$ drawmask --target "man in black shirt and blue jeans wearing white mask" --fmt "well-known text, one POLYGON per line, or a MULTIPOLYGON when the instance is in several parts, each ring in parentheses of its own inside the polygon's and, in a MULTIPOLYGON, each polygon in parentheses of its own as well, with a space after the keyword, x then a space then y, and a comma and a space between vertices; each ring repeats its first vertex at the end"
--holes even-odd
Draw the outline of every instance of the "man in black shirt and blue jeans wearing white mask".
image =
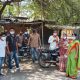
POLYGON ((10 35, 7 37, 7 51, 9 56, 9 69, 11 73, 14 73, 12 69, 12 59, 15 60, 16 63, 16 71, 19 70, 19 60, 18 60, 18 43, 15 35, 15 30, 13 28, 10 29, 10 35))

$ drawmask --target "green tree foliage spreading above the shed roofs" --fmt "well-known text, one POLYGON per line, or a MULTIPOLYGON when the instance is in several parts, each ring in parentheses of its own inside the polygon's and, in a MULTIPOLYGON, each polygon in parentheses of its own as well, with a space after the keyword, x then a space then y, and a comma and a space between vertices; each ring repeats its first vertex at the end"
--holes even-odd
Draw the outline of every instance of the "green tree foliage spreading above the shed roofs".
POLYGON ((80 21, 80 0, 25 0, 26 4, 7 6, 4 10, 6 15, 7 10, 12 15, 19 15, 20 12, 29 12, 26 16, 36 19, 53 20, 57 24, 66 25, 80 21), (20 9, 20 11, 19 11, 20 9))

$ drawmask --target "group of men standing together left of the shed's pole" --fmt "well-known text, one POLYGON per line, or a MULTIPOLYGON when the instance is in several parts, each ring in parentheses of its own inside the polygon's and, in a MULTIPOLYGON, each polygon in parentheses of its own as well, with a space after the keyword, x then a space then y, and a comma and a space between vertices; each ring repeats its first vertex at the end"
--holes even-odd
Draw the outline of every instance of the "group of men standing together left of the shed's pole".
POLYGON ((8 68, 11 73, 14 73, 12 59, 16 63, 16 71, 20 70, 19 67, 19 47, 22 47, 25 42, 26 45, 29 45, 30 53, 32 56, 32 61, 35 62, 38 60, 38 48, 41 46, 40 35, 37 33, 36 29, 33 29, 32 33, 27 35, 28 32, 20 31, 19 35, 16 35, 14 28, 11 28, 8 33, 0 34, 0 75, 3 75, 1 72, 2 64, 4 63, 5 55, 8 56, 8 68))

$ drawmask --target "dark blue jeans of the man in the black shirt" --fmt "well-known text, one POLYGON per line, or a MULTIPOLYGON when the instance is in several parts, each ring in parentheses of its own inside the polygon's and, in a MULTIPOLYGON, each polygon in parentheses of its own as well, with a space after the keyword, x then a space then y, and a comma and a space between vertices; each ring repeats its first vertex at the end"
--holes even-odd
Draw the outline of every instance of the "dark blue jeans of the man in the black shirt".
POLYGON ((15 63, 16 63, 16 67, 19 68, 19 59, 18 59, 18 54, 16 53, 16 50, 11 52, 11 54, 9 54, 9 60, 8 60, 8 66, 9 66, 9 69, 12 69, 12 59, 15 60, 15 63))

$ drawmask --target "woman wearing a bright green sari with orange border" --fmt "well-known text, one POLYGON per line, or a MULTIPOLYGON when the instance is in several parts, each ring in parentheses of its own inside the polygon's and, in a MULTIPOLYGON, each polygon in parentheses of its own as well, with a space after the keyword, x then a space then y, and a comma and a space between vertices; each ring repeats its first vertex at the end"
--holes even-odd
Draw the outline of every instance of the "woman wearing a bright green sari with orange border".
POLYGON ((66 68, 66 76, 72 79, 77 78, 78 74, 78 63, 80 60, 79 55, 79 41, 72 37, 69 41, 68 47, 68 61, 66 68))

